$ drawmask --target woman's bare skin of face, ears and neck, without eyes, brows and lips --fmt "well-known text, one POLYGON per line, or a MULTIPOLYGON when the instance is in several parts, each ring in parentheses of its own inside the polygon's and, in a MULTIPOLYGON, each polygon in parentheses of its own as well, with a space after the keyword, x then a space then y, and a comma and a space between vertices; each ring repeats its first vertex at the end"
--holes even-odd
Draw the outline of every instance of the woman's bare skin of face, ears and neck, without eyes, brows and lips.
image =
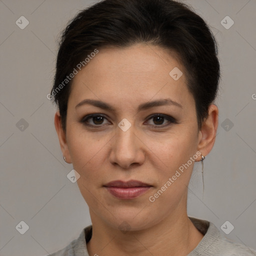
POLYGON ((186 87, 184 68, 174 52, 149 44, 104 48, 75 75, 68 99, 66 132, 55 114, 60 147, 68 163, 80 174, 79 190, 88 204, 93 233, 89 255, 187 255, 203 237, 187 216, 187 186, 194 161, 154 202, 154 195, 197 151, 195 161, 207 155, 215 141, 218 108, 211 104, 198 130, 195 102, 186 87), (178 80, 169 72, 178 67, 178 80), (84 104, 102 100, 115 111, 84 104), (170 98, 181 104, 154 106, 138 111, 139 104, 170 98), (99 121, 88 114, 103 114, 99 121), (165 114, 176 119, 150 118, 165 114), (118 123, 131 126, 123 131, 118 123), (164 126, 155 128, 153 125, 164 126), (98 126, 101 125, 101 127, 98 126), (105 187, 112 180, 140 180, 152 187, 137 198, 123 200, 105 187), (128 230, 120 224, 128 223, 128 230))

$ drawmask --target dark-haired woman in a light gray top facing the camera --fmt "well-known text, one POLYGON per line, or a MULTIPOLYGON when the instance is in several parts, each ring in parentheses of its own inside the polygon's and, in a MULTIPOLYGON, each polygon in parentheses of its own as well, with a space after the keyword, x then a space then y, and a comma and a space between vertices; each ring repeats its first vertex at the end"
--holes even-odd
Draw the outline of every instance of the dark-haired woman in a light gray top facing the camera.
POLYGON ((51 95, 92 226, 51 255, 254 255, 186 211, 219 76, 215 39, 185 4, 103 0, 70 21, 51 95))

